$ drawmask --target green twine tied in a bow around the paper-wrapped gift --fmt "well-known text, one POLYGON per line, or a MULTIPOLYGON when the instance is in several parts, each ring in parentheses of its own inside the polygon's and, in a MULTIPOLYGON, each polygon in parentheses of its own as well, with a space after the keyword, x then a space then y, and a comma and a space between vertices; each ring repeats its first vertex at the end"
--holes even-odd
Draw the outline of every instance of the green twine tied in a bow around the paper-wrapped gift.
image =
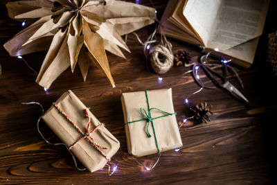
POLYGON ((161 109, 158 109, 158 108, 155 108, 155 107, 150 108, 147 90, 145 90, 145 96, 146 96, 146 102, 147 102, 147 105, 148 105, 148 113, 146 112, 146 110, 145 110, 143 107, 141 107, 141 114, 143 114, 143 116, 144 116, 145 118, 139 119, 139 120, 136 120, 136 121, 130 121, 130 122, 125 123, 124 125, 130 124, 130 123, 139 122, 139 121, 148 121, 148 124, 147 124, 147 126, 146 126, 146 132, 147 132, 147 134, 148 134, 149 137, 152 137, 151 134, 150 134, 150 132, 149 132, 149 130, 148 130, 148 127, 149 127, 149 125, 150 125, 150 123, 151 123, 152 128, 153 128, 153 133, 154 133, 154 138, 155 138, 157 150, 158 150, 158 154, 160 154, 161 152, 160 152, 160 150, 159 150, 159 145, 158 145, 158 141, 157 141, 157 136, 156 136, 156 132, 155 132, 155 127, 154 127, 153 120, 154 120, 154 119, 157 119, 157 118, 163 118, 163 117, 166 117, 166 116, 176 115, 177 113, 176 113, 176 112, 174 112, 174 113, 165 112, 165 111, 163 111, 163 110, 161 110, 161 109), (152 116, 151 116, 151 111, 152 111, 152 109, 156 109, 156 110, 158 110, 159 112, 164 113, 165 115, 163 115, 163 116, 158 116, 158 117, 156 117, 156 118, 152 118, 152 116))

